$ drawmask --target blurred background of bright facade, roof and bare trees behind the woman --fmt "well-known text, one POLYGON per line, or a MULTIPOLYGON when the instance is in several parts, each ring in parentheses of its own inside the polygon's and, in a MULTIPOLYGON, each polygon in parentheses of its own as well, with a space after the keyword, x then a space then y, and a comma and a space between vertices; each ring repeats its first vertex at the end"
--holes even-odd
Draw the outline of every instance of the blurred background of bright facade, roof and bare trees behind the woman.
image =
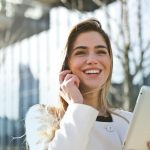
POLYGON ((24 118, 57 104, 57 68, 69 29, 97 18, 113 48, 109 99, 133 111, 150 86, 149 0, 0 0, 0 150, 24 150, 24 118))

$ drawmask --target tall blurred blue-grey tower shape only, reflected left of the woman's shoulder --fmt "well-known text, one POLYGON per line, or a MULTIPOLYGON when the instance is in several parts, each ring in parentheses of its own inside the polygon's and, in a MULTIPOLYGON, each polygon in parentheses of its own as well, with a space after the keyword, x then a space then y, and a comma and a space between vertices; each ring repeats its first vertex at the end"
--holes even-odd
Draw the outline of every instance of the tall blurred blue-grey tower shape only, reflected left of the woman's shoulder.
POLYGON ((35 79, 29 66, 19 66, 19 119, 24 119, 29 107, 39 103, 39 80, 35 79))

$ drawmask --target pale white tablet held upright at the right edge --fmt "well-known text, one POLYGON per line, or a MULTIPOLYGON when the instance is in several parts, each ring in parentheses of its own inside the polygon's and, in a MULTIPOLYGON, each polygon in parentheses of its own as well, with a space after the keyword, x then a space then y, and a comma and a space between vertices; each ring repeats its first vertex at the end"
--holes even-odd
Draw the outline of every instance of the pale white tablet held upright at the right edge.
POLYGON ((150 141, 150 87, 143 86, 137 98, 123 150, 148 150, 146 145, 148 141, 150 141))

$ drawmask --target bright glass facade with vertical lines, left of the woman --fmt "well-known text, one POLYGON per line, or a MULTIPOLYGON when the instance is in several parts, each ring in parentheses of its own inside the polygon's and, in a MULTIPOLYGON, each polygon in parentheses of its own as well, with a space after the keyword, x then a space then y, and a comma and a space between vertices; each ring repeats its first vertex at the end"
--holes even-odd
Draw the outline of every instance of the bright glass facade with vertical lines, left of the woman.
POLYGON ((60 51, 70 26, 87 15, 93 14, 52 9, 49 30, 0 49, 0 150, 25 149, 29 107, 57 104, 60 51))

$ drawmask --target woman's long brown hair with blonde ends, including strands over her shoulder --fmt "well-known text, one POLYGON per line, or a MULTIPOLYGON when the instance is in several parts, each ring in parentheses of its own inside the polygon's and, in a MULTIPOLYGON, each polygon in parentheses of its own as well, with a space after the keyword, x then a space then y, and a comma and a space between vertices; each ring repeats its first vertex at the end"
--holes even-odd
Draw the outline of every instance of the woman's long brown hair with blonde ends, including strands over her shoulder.
MULTIPOLYGON (((110 68, 110 74, 106 82, 98 90, 98 102, 99 102, 99 110, 103 110, 104 113, 105 112, 113 113, 113 111, 111 111, 110 109, 110 106, 107 100, 107 94, 108 94, 110 83, 111 83, 112 68, 113 68, 111 43, 110 43, 108 35, 102 29, 101 23, 97 19, 91 18, 91 19, 84 20, 72 28, 72 30, 69 33, 69 36, 68 36, 68 39, 67 39, 64 51, 63 51, 63 60, 60 66, 60 72, 63 70, 69 69, 68 61, 72 52, 73 44, 75 40, 77 39, 77 37, 79 36, 79 34, 89 32, 89 31, 96 31, 100 35, 102 35, 107 45, 107 49, 108 49, 109 56, 111 59, 111 68, 110 68)), ((97 90, 96 91, 92 90, 84 94, 90 94, 93 92, 97 92, 97 90)), ((59 123, 68 107, 68 103, 63 99, 63 97, 61 97, 60 95, 59 97, 60 97, 60 100, 59 100, 58 107, 51 108, 48 105, 46 106, 46 111, 49 112, 50 114, 51 112, 53 112, 52 114, 54 116, 54 120, 57 120, 51 127, 52 132, 53 132, 53 136, 49 135, 51 137, 51 140, 54 138, 55 131, 59 128, 59 123)))

